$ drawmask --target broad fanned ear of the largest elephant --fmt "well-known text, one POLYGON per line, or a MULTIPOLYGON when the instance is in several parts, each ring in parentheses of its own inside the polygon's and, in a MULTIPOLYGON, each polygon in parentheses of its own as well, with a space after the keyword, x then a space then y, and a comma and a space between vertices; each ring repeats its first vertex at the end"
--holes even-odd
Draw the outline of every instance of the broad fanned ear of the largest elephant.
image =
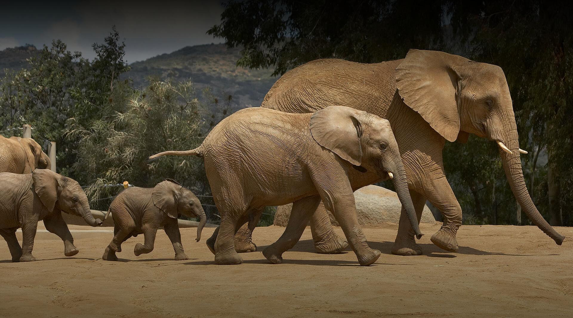
POLYGON ((448 141, 460 132, 456 69, 469 59, 440 51, 409 50, 396 67, 396 86, 406 105, 448 141))

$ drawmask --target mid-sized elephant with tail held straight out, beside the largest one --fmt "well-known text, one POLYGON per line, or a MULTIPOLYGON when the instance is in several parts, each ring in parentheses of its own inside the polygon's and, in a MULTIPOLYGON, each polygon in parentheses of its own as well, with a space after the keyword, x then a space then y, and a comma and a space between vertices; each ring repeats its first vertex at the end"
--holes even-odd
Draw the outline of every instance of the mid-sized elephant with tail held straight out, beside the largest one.
POLYGON ((199 156, 221 225, 207 240, 215 264, 240 264, 234 236, 248 222, 252 230, 266 205, 294 202, 278 241, 263 251, 272 263, 292 248, 311 212, 324 201, 342 226, 360 265, 380 252, 368 247, 360 229, 354 190, 394 178, 398 197, 419 236, 398 145, 387 120, 360 110, 330 106, 314 114, 290 114, 264 108, 240 110, 221 121, 193 150, 151 156, 199 156))

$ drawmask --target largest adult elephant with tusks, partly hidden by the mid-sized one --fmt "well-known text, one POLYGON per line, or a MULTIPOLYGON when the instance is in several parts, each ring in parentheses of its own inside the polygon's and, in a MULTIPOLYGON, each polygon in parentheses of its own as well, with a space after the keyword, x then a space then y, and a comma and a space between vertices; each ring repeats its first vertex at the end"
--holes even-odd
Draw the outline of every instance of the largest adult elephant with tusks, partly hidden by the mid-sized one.
MULTIPOLYGON (((512 192, 533 224, 561 245, 564 236, 541 216, 525 187, 517 125, 509 88, 499 66, 440 51, 410 50, 404 59, 374 64, 318 59, 288 71, 266 94, 262 107, 309 113, 328 105, 365 110, 390 121, 408 177, 418 220, 426 199, 444 216, 431 241, 456 252, 462 211, 444 173, 445 141, 466 141, 469 133, 497 142, 512 192)), ((332 232, 324 209, 313 215, 319 252, 345 244, 332 232)), ((240 234, 250 237, 241 229, 240 234)), ((247 240, 248 240, 247 238, 247 240)), ((402 209, 392 252, 420 255, 402 209)))

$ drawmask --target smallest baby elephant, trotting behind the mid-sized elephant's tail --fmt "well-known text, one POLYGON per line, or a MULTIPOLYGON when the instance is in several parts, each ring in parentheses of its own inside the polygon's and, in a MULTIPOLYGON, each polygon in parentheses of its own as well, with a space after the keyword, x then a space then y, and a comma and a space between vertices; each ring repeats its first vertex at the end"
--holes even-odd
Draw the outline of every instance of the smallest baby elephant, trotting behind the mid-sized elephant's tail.
POLYGON ((188 260, 183 251, 181 234, 177 215, 199 217, 197 238, 201 239, 201 231, 207 222, 207 216, 199 199, 189 189, 183 188, 174 180, 167 179, 155 188, 138 188, 136 186, 123 190, 109 205, 108 213, 113 217, 113 240, 105 248, 103 259, 116 261, 115 252, 121 252, 121 243, 129 237, 142 234, 145 244, 135 245, 135 256, 153 251, 155 233, 163 226, 165 233, 173 244, 175 260, 188 260))

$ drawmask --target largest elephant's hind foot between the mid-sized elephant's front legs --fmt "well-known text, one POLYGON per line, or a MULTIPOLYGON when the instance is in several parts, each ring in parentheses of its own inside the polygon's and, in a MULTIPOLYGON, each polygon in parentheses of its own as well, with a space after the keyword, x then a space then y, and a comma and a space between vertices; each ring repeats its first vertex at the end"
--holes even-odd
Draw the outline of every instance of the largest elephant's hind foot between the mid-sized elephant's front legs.
POLYGON ((311 232, 317 253, 337 254, 348 247, 347 241, 334 232, 323 202, 320 202, 312 214, 311 232))

